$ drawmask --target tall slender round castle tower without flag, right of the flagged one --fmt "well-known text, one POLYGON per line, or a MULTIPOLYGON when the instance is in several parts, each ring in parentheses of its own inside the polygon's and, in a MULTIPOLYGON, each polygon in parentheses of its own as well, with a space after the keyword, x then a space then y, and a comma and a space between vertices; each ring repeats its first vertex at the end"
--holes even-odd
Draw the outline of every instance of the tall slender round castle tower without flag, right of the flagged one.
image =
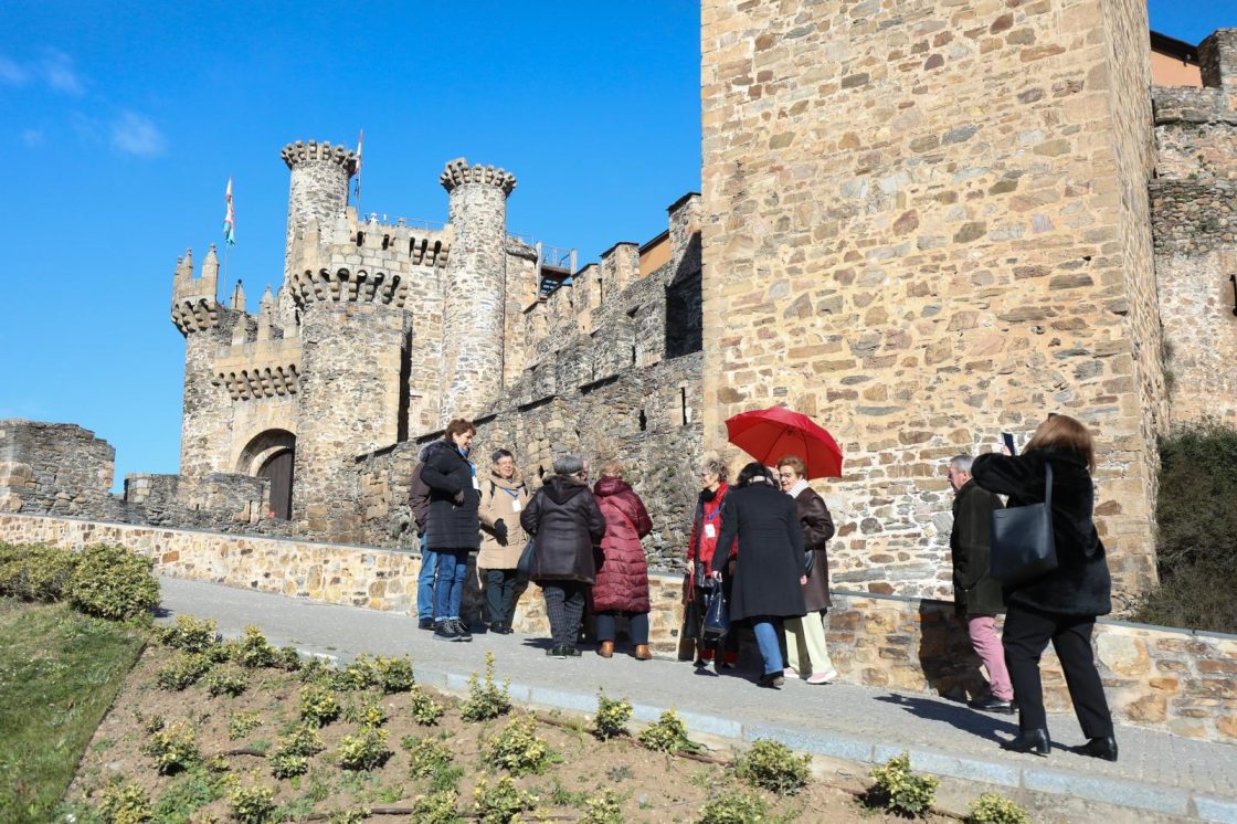
POLYGON ((439 177, 454 230, 443 293, 443 423, 474 417, 502 388, 507 195, 516 176, 492 166, 447 163, 439 177))

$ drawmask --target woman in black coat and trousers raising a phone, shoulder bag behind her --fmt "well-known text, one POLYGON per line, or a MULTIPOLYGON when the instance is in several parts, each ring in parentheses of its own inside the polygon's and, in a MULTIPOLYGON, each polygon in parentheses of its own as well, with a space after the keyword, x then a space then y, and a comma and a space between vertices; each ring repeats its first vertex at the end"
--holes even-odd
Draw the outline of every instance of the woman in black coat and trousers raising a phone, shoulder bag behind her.
POLYGON ((1004 653, 1019 735, 1007 750, 1047 756, 1051 747, 1039 657, 1053 642, 1065 671, 1074 711, 1089 742, 1084 755, 1117 760, 1112 715, 1095 667, 1091 632, 1097 615, 1112 611, 1112 579, 1092 513, 1095 445, 1087 428, 1065 414, 1039 424, 1022 455, 986 454, 975 459, 971 478, 982 489, 1008 495, 1008 506, 1044 501, 1047 471, 1053 469, 1053 537, 1056 569, 1004 588, 1004 653))

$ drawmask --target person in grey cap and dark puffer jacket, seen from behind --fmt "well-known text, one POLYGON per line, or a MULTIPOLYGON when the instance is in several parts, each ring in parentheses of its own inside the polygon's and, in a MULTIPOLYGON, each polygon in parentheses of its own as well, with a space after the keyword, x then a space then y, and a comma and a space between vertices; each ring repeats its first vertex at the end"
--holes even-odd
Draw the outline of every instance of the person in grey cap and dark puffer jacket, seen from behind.
POLYGON ((606 518, 589 491, 589 473, 576 455, 554 459, 554 474, 520 513, 520 526, 533 536, 534 554, 529 578, 542 588, 553 645, 546 654, 578 656, 589 588, 597 569, 593 548, 606 533, 606 518))

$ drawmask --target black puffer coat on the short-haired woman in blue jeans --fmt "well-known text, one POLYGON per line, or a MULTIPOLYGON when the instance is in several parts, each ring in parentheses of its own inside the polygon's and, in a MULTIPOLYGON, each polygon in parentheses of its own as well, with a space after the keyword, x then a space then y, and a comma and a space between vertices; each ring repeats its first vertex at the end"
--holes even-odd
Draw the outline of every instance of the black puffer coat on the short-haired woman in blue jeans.
POLYGON ((429 513, 423 546, 429 549, 477 549, 481 495, 473 484, 473 465, 450 440, 424 449, 421 480, 429 487, 429 513))

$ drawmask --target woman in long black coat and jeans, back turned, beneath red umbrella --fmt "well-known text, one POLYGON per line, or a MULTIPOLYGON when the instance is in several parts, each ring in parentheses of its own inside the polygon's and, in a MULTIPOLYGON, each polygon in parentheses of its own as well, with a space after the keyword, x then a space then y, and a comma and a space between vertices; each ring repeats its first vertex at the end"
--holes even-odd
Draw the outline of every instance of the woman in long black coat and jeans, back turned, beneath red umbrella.
MULTIPOLYGON (((738 481, 722 504, 717 546, 729 547, 735 538, 738 538, 738 557, 730 619, 751 621, 764 661, 757 683, 777 688, 783 683, 783 667, 776 625, 785 617, 807 615, 802 585, 808 577, 794 499, 782 492, 769 470, 755 461, 738 473, 738 481)), ((721 580, 727 562, 725 552, 714 553, 714 579, 721 580)))

